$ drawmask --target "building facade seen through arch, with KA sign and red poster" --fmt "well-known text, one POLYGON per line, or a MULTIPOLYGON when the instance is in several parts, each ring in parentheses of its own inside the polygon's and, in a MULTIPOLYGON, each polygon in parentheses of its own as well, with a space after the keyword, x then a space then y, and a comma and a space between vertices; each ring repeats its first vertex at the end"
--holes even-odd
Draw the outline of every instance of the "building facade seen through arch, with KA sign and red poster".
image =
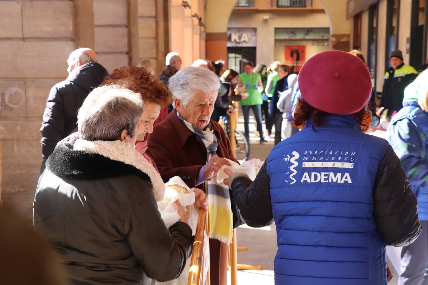
POLYGON ((242 60, 278 60, 298 72, 307 59, 330 50, 330 22, 318 0, 240 0, 227 34, 229 68, 239 71, 242 60))

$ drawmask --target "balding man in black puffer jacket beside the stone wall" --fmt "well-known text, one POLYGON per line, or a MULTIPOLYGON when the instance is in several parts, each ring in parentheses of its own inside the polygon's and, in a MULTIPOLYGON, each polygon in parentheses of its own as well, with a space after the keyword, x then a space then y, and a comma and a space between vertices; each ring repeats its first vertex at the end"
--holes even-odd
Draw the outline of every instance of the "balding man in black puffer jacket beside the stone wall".
POLYGON ((58 141, 69 135, 77 123, 77 110, 94 87, 101 84, 107 70, 97 63, 97 56, 89 48, 74 50, 67 60, 68 77, 54 85, 49 93, 43 114, 42 156, 40 173, 45 170, 46 159, 53 153, 58 141))

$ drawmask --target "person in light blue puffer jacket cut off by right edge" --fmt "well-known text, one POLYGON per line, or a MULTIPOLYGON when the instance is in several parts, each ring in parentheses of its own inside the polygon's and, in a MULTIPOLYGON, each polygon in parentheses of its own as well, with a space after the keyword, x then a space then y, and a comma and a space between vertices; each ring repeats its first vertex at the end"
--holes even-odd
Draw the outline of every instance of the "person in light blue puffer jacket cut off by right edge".
POLYGON ((398 285, 420 285, 428 267, 428 70, 404 89, 403 108, 388 126, 388 140, 406 170, 419 204, 422 233, 401 249, 398 285))

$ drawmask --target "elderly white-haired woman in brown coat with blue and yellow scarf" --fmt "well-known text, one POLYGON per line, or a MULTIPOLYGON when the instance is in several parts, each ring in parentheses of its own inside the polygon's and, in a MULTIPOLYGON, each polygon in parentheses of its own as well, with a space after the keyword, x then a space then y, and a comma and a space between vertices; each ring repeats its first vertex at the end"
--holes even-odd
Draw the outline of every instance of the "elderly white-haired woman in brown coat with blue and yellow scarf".
POLYGON ((208 69, 187 67, 175 73, 169 79, 175 109, 155 126, 149 140, 163 181, 180 176, 208 194, 211 285, 226 284, 227 243, 234 226, 227 181, 217 184, 213 178, 230 165, 226 159, 236 162, 223 128, 210 120, 219 88, 218 77, 208 69))

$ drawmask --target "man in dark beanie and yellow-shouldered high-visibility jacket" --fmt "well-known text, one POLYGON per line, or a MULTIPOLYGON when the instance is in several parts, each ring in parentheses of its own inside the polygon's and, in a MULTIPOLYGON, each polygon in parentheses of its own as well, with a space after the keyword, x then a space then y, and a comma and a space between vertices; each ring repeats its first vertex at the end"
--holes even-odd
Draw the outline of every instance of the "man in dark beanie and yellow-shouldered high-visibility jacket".
POLYGON ((405 65, 401 50, 393 50, 389 54, 391 67, 385 72, 380 106, 388 109, 386 117, 391 119, 402 107, 404 88, 415 80, 418 72, 410 65, 405 65))

